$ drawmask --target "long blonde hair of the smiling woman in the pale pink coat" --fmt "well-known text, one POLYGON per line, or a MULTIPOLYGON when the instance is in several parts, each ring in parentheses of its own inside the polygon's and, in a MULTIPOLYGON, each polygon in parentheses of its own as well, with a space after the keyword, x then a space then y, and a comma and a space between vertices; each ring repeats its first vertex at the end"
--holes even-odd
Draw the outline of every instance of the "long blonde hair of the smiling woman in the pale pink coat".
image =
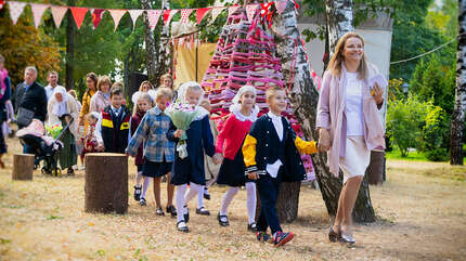
MULTIPOLYGON (((345 51, 345 44, 349 38, 358 38, 362 42, 362 48, 364 49, 364 38, 362 38, 361 35, 350 31, 345 34, 337 42, 337 45, 335 47, 335 53, 334 56, 332 56, 331 62, 328 62, 327 69, 332 73, 334 76, 341 76, 341 64, 345 61, 344 51, 345 51)), ((361 63, 358 67, 359 78, 363 79, 367 77, 367 61, 365 58, 365 53, 363 52, 361 63)))

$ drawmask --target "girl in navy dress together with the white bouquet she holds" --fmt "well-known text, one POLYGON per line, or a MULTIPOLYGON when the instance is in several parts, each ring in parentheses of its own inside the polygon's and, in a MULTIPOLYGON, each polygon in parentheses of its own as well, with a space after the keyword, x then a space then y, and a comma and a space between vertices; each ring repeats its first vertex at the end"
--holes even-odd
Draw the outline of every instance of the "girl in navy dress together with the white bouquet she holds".
POLYGON ((199 106, 203 96, 204 91, 197 82, 185 82, 179 89, 179 103, 166 110, 171 118, 167 138, 177 143, 171 183, 177 186, 177 229, 181 232, 189 232, 186 204, 206 184, 204 151, 216 164, 221 161, 221 155, 215 154, 209 113, 199 106), (185 195, 187 184, 191 188, 185 195))

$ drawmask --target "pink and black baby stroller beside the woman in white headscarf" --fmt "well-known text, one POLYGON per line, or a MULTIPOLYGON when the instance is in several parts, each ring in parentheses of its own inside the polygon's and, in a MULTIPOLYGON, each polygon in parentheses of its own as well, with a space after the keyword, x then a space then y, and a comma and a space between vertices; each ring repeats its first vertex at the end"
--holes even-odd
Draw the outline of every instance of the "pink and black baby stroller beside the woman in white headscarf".
MULTIPOLYGON (((65 116, 69 115, 63 115, 62 117, 65 116)), ((43 161, 43 167, 41 169, 42 174, 51 174, 53 177, 60 177, 62 174, 62 169, 57 166, 56 154, 63 147, 60 138, 69 128, 73 120, 72 118, 61 130, 56 139, 44 135, 43 123, 37 119, 33 119, 28 127, 17 131, 16 136, 20 138, 23 144, 30 146, 30 149, 34 152, 34 168, 37 169, 40 162, 43 161)))

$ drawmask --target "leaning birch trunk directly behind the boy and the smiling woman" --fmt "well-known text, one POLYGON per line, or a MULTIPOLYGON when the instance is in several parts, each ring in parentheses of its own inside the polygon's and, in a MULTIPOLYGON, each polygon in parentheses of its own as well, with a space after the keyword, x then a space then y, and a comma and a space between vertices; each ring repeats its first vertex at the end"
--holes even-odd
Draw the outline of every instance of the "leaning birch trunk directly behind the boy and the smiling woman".
MULTIPOLYGON (((313 84, 310 66, 306 58, 306 52, 300 41, 300 32, 297 27, 295 5, 288 1, 285 11, 281 16, 275 17, 273 29, 286 38, 279 39, 279 55, 283 61, 284 76, 289 75, 289 70, 295 71, 294 84, 289 90, 290 102, 295 115, 301 125, 305 136, 308 140, 318 140, 319 133, 315 130, 315 115, 319 102, 319 93, 313 84), (296 48, 296 50, 294 50, 296 48), (295 54, 295 55, 292 55, 295 54), (296 58, 295 68, 290 68, 292 61, 296 58)), ((285 77, 285 82, 288 81, 285 77)), ((335 216, 338 208, 338 198, 341 191, 341 180, 335 178, 326 165, 326 154, 318 153, 311 155, 312 164, 318 177, 322 197, 325 201, 327 212, 335 216)), ((366 184, 367 182, 365 182, 366 184)), ((365 185, 367 187, 367 185, 365 185)), ((373 222, 375 220, 368 190, 361 188, 354 207, 353 217, 357 222, 373 222)))

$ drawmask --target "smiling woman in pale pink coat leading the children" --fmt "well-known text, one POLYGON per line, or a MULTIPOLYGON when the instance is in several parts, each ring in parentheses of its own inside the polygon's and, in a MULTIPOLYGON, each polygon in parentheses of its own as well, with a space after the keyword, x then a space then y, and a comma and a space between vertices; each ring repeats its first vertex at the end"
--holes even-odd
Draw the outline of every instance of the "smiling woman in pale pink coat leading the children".
POLYGON ((371 149, 385 148, 378 117, 384 90, 377 83, 368 84, 375 76, 377 68, 364 55, 364 39, 355 32, 342 36, 323 77, 316 116, 319 149, 328 152, 332 173, 344 172, 338 210, 328 233, 332 242, 354 244, 351 213, 371 149))

